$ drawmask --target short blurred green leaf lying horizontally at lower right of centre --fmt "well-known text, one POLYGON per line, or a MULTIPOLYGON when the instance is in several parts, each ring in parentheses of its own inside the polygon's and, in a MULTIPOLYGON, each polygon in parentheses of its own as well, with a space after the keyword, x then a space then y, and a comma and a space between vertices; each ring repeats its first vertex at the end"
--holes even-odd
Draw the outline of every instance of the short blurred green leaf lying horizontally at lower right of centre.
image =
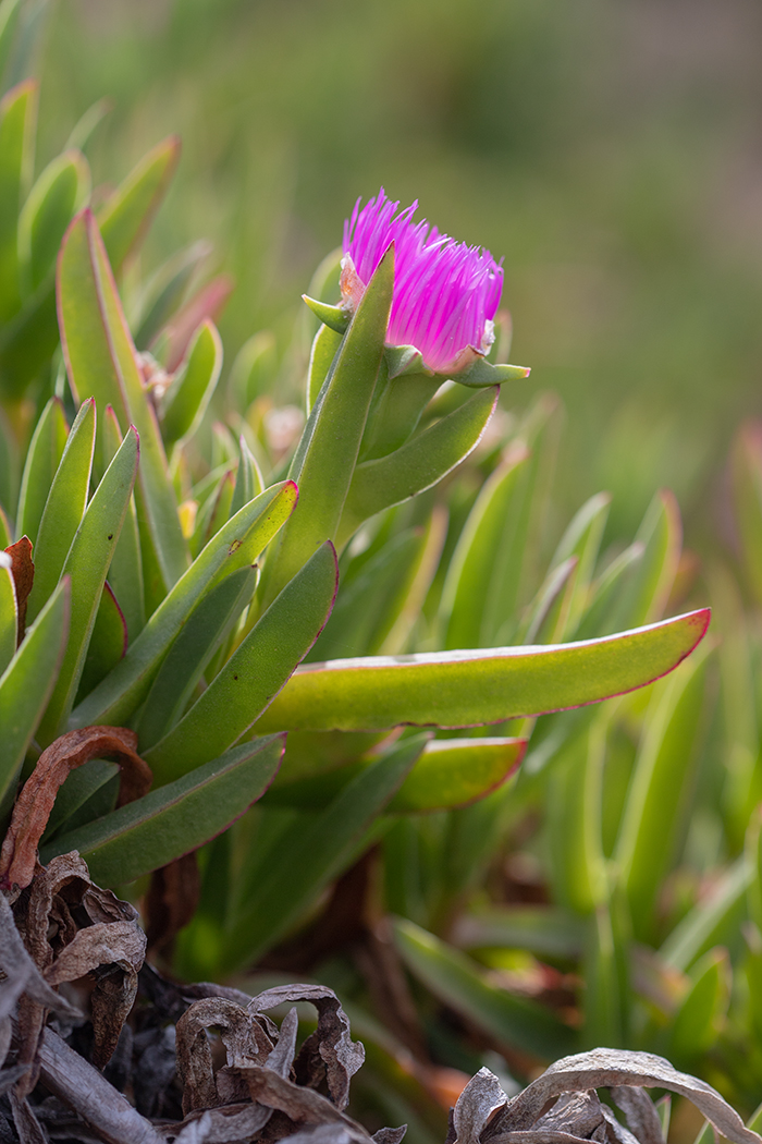
POLYGON ((538 956, 577 958, 585 922, 558 906, 500 906, 463 914, 452 942, 463 950, 528 950, 538 956))

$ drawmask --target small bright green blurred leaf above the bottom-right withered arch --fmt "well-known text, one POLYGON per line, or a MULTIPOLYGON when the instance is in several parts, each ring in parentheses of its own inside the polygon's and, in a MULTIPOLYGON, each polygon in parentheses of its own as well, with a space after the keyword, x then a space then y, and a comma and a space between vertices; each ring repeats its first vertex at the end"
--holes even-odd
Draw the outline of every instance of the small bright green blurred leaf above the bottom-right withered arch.
POLYGON ((689 1064, 712 1047, 730 1000, 727 950, 711 950, 693 967, 692 984, 669 1031, 669 1059, 689 1064))

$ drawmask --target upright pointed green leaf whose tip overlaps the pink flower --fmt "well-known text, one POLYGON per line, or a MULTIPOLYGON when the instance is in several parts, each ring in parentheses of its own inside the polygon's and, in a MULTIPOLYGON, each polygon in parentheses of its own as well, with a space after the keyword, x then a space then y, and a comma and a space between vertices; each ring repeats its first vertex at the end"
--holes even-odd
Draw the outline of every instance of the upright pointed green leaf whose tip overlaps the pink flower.
POLYGON ((363 294, 291 462, 289 476, 299 485, 299 503, 267 554, 263 607, 319 545, 336 537, 384 352, 393 283, 390 248, 363 294))

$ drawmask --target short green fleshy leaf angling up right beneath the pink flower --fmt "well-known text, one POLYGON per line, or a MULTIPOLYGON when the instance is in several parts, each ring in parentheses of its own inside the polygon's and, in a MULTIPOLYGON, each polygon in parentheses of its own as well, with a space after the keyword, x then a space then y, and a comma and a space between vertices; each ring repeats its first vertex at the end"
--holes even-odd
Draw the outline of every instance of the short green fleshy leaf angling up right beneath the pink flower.
POLYGON ((369 517, 431 488, 476 447, 499 391, 474 394, 455 412, 412 437, 401 448, 355 469, 338 530, 344 545, 369 517))

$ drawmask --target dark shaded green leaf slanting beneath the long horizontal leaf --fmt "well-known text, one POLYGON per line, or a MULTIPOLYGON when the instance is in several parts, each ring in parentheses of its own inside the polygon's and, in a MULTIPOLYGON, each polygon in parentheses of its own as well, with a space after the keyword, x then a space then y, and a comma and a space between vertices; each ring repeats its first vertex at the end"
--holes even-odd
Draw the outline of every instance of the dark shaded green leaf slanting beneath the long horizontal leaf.
POLYGON ((299 816, 274 847, 259 856, 256 882, 223 935, 225 970, 255 961, 291 925, 338 873, 394 795, 424 746, 406 739, 359 774, 321 815, 299 816), (283 855, 288 860, 283 860, 283 855))

